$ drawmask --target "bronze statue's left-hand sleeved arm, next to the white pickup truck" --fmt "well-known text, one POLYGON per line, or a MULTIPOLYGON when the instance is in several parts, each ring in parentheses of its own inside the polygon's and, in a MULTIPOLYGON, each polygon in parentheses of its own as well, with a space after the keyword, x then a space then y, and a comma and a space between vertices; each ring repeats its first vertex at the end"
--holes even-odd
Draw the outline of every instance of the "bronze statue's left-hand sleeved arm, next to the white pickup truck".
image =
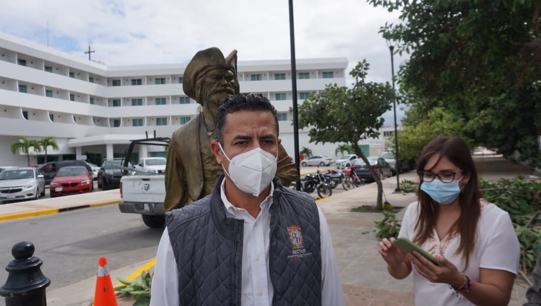
MULTIPOLYGON (((173 135, 174 136, 174 135, 173 135)), ((163 208, 166 211, 181 208, 182 203, 188 203, 188 183, 186 182, 186 171, 180 158, 176 137, 171 139, 167 150, 167 165, 165 174, 166 198, 163 208)))

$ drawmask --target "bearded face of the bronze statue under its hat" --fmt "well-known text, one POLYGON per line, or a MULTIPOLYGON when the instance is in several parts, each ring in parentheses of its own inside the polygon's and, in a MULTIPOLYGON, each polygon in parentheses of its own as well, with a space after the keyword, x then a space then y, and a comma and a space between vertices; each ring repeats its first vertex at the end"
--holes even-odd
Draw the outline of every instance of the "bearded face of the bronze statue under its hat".
MULTIPOLYGON (((235 75, 230 70, 213 69, 202 78, 197 91, 197 102, 212 104, 216 107, 226 101, 227 97, 235 95, 235 75)), ((210 106, 210 105, 209 105, 210 106)))

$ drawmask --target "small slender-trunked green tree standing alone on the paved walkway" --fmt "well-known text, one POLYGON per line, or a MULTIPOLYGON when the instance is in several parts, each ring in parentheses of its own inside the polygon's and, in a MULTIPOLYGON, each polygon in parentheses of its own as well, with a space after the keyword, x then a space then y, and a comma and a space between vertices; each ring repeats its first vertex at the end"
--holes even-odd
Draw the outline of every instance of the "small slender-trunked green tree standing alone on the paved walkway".
MULTIPOLYGON (((349 144, 355 154, 367 164, 368 159, 362 154, 358 142, 360 139, 377 138, 384 123, 381 115, 391 109, 395 98, 394 90, 385 84, 366 82, 369 64, 359 62, 349 72, 354 77, 353 88, 327 85, 319 95, 310 94, 298 108, 299 128, 308 128, 310 142, 349 144), (344 111, 347 109, 348 111, 344 111)), ((379 175, 368 167, 378 185, 376 208, 382 210, 383 188, 379 175)))

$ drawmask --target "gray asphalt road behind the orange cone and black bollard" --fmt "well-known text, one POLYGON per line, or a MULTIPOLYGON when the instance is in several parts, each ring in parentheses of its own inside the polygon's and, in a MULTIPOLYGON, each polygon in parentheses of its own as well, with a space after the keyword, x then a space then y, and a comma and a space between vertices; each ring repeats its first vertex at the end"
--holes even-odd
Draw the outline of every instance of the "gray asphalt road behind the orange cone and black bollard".
MULTIPOLYGON (((101 256, 110 270, 154 257, 163 230, 150 229, 140 215, 122 214, 117 205, 107 205, 3 221, 0 232, 0 285, 8 277, 4 267, 13 260, 11 247, 30 241, 34 256, 43 261, 43 274, 51 279, 50 291, 95 277, 101 256)), ((116 280, 115 275, 111 278, 116 280)), ((0 305, 3 302, 1 298, 0 305)))

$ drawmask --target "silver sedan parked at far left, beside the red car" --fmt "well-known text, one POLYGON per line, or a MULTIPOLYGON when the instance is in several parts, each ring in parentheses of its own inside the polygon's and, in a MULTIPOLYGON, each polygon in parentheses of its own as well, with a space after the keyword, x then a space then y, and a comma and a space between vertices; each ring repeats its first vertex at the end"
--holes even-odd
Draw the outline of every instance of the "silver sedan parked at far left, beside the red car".
POLYGON ((45 179, 35 167, 6 169, 0 172, 0 201, 23 201, 45 196, 45 179))

